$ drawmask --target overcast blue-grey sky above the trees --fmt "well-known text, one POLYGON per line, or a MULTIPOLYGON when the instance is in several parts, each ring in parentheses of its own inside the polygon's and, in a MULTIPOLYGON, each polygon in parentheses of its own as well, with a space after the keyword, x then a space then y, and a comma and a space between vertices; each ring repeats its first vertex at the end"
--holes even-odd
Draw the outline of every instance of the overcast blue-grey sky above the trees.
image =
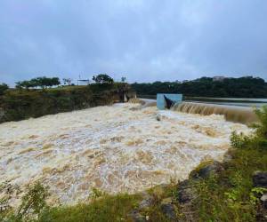
POLYGON ((0 82, 267 80, 266 0, 0 0, 0 82))

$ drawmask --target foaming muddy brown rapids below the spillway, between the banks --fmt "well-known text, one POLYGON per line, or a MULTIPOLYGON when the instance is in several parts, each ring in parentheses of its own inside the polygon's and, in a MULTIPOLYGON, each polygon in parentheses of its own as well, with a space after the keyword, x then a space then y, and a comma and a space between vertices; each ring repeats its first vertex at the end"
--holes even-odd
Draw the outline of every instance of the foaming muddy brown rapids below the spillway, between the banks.
POLYGON ((96 187, 134 193, 187 178, 206 159, 222 160, 231 131, 223 115, 191 115, 116 104, 0 124, 0 183, 23 190, 40 180, 53 203, 85 201, 96 187))

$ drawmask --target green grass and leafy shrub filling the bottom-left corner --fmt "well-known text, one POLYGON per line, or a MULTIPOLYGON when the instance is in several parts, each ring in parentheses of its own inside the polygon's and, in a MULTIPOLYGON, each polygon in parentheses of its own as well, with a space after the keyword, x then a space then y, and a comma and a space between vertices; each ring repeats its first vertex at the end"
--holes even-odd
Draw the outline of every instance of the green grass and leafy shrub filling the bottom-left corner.
POLYGON ((0 221, 131 221, 129 214, 141 200, 139 194, 102 194, 94 197, 88 203, 79 203, 75 206, 48 207, 44 202, 47 195, 44 186, 36 183, 29 187, 28 193, 22 197, 19 210, 9 209, 2 212, 0 210, 0 221))

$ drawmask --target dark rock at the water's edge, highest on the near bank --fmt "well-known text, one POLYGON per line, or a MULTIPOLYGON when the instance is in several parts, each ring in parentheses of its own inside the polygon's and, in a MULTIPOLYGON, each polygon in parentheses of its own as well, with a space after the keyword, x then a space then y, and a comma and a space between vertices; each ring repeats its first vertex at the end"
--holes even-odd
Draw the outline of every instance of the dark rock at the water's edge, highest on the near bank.
POLYGON ((223 170, 223 165, 222 163, 219 162, 202 163, 202 164, 204 165, 201 166, 200 163, 196 170, 190 172, 190 178, 193 179, 208 178, 210 177, 210 175, 216 174, 219 171, 223 170))

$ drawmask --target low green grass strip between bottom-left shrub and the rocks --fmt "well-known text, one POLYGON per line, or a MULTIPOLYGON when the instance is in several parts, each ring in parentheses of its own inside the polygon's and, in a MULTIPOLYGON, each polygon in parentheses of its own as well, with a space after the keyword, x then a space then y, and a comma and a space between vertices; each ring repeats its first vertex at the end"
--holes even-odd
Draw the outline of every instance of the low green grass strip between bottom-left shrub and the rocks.
POLYGON ((52 208, 44 211, 39 221, 130 221, 128 214, 138 205, 139 195, 104 195, 90 202, 72 207, 52 208))

